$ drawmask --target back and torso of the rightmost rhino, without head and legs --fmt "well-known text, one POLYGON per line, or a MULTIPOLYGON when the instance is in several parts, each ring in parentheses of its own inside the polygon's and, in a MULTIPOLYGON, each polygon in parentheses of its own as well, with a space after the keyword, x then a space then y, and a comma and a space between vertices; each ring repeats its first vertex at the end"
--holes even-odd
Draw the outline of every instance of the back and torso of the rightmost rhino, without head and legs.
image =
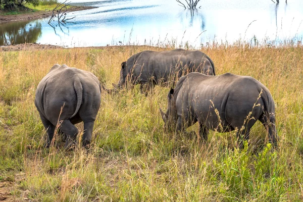
MULTIPOLYGON (((196 119, 208 119, 215 123, 218 122, 216 109, 223 125, 231 125, 235 116, 244 120, 255 103, 264 105, 262 99, 258 99, 263 87, 259 81, 247 76, 227 73, 213 77, 190 73, 183 80, 177 95, 177 113, 181 116, 185 110, 196 119)), ((262 109, 257 107, 255 110, 258 114, 262 109)))

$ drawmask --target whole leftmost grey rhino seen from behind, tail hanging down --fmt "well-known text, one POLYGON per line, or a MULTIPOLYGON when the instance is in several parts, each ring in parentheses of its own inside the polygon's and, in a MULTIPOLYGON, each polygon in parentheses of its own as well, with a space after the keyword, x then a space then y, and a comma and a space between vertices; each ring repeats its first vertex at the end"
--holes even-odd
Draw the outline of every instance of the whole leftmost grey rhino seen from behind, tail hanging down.
POLYGON ((98 79, 90 72, 58 64, 49 70, 38 84, 35 96, 35 106, 47 131, 46 147, 51 145, 58 121, 66 135, 65 148, 74 144, 78 134, 74 124, 82 121, 82 144, 86 146, 91 142, 101 102, 100 87, 98 79))

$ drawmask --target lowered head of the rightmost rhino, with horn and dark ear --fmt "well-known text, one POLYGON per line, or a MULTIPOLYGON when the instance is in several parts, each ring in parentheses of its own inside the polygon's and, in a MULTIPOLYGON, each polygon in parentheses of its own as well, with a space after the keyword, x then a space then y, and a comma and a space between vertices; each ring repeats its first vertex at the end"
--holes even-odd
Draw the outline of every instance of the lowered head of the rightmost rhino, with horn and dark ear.
POLYGON ((174 89, 172 88, 167 95, 168 104, 167 104, 166 113, 164 113, 160 108, 160 113, 164 121, 164 129, 167 131, 173 131, 175 129, 176 122, 178 119, 176 100, 173 98, 173 96, 174 96, 174 89))

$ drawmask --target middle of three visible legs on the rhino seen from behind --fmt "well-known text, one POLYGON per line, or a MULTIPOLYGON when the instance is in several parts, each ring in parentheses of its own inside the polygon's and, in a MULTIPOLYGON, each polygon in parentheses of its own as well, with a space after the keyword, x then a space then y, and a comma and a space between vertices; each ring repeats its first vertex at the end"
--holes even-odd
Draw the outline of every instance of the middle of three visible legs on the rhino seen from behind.
POLYGON ((64 120, 60 125, 60 130, 66 135, 64 148, 71 148, 72 145, 76 143, 75 140, 78 134, 78 129, 70 122, 70 120, 64 120))

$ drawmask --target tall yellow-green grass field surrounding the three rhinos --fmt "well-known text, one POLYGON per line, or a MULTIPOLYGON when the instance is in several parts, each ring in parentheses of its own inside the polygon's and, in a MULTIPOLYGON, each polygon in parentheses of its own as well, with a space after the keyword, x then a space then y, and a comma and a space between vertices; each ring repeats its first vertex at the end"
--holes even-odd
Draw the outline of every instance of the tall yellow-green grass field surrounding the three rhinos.
MULTIPOLYGON (((37 84, 56 63, 117 83, 120 64, 148 46, 0 53, 0 182, 16 199, 37 201, 303 200, 303 48, 228 46, 202 49, 216 73, 252 76, 271 91, 280 137, 276 151, 260 123, 251 145, 233 149, 235 133, 211 132, 206 144, 164 133, 159 107, 168 90, 104 93, 93 146, 39 149, 45 130, 34 106, 37 84)), ((82 130, 82 125, 79 124, 82 130)), ((192 129, 197 130, 197 126, 192 129)), ((60 144, 60 141, 58 141, 60 144)), ((0 186, 1 187, 1 186, 0 186)))

